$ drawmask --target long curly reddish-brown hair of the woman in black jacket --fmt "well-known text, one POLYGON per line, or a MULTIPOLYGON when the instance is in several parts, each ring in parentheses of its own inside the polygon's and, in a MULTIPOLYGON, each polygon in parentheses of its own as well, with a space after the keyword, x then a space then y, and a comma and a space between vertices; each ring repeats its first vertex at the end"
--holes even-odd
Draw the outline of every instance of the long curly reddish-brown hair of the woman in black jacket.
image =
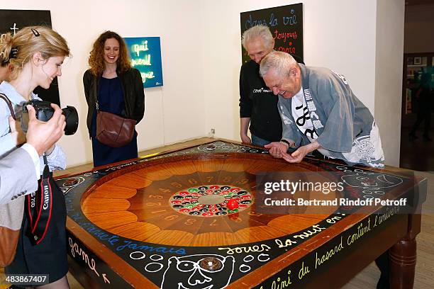
POLYGON ((94 42, 94 47, 90 52, 89 66, 92 74, 98 76, 104 72, 104 44, 107 39, 115 38, 119 42, 119 57, 116 61, 116 72, 123 73, 131 68, 130 57, 123 38, 118 33, 106 31, 99 35, 99 38, 94 42))

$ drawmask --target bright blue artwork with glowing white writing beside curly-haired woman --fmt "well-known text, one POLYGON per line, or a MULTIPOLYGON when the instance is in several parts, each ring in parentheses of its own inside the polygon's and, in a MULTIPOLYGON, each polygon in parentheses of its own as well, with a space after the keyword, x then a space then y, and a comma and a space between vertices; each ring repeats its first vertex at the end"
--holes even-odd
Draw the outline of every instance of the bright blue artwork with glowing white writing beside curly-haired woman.
POLYGON ((130 51, 131 66, 142 75, 143 87, 162 86, 161 47, 159 37, 123 38, 130 51))

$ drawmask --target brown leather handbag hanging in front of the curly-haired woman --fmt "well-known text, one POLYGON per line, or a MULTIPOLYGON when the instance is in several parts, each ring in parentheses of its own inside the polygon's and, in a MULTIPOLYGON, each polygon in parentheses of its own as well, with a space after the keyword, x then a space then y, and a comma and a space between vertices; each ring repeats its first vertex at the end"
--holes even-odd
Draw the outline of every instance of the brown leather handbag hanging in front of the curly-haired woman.
POLYGON ((96 102, 96 139, 109 147, 123 147, 133 140, 135 120, 100 111, 96 102))

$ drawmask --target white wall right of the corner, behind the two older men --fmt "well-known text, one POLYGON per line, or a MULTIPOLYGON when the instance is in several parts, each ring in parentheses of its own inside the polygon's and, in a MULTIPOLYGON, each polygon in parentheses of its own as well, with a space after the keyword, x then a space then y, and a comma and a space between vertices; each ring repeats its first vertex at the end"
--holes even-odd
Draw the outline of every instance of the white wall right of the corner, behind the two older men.
POLYGON ((374 111, 376 1, 221 0, 204 1, 204 91, 206 130, 239 140, 238 74, 241 65, 240 12, 303 2, 304 62, 334 69, 374 111))

